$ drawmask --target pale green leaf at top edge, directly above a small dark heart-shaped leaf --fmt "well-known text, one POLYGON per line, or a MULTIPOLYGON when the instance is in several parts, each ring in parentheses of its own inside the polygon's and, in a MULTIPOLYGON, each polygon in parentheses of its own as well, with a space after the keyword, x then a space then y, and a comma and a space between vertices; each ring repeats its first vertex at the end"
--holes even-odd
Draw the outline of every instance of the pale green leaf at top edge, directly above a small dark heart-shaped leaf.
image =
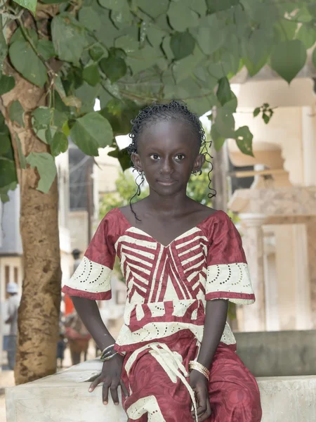
POLYGON ((167 14, 170 25, 178 32, 199 25, 199 15, 180 2, 171 1, 167 14))

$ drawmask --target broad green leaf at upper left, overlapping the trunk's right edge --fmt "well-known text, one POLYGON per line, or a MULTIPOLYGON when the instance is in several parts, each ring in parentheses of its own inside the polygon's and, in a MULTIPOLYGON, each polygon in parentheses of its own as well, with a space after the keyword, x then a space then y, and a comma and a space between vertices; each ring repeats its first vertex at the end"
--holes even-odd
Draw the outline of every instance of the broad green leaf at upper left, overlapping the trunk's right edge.
POLYGON ((53 18, 51 34, 58 58, 78 65, 88 44, 84 28, 79 22, 70 13, 61 13, 53 18))

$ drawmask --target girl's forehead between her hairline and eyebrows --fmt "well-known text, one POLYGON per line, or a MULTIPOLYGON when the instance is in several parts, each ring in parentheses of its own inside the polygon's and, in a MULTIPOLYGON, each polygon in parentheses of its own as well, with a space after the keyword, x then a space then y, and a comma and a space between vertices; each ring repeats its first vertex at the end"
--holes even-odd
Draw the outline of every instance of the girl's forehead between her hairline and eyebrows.
POLYGON ((149 122, 141 132, 138 146, 188 146, 192 148, 198 142, 197 134, 187 122, 181 120, 163 120, 149 122))

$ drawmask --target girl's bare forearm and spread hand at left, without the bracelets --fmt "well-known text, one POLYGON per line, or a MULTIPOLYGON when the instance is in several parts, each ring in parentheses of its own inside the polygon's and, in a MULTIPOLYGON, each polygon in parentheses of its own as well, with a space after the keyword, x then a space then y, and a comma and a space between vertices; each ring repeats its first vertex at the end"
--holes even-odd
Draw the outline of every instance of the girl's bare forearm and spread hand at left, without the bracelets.
MULTIPOLYGON (((76 308, 82 322, 96 341, 100 350, 104 350, 105 347, 115 343, 114 338, 103 324, 99 308, 95 300, 72 296, 72 302, 74 303, 74 307, 76 308)), ((103 362, 103 368, 100 376, 98 376, 89 387, 89 392, 92 392, 97 385, 103 382, 103 404, 107 404, 108 402, 109 388, 114 404, 119 404, 119 395, 117 392, 119 385, 121 385, 121 390, 124 393, 124 396, 128 397, 129 395, 126 386, 123 381, 121 381, 121 369, 123 362, 124 357, 120 354, 116 354, 112 357, 112 359, 107 362, 103 362)))

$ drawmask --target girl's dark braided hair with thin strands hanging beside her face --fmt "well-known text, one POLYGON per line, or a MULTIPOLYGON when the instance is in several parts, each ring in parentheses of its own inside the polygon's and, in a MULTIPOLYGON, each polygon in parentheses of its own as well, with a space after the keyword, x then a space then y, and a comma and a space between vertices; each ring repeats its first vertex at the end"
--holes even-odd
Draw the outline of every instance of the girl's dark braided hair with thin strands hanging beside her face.
MULTIPOLYGON (((166 120, 180 120, 184 123, 187 123, 187 125, 192 130, 192 133, 197 136, 197 141, 199 142, 199 153, 203 154, 205 157, 206 162, 209 162, 211 165, 211 169, 209 170, 208 176, 209 176, 209 198, 213 198, 213 196, 216 195, 216 191, 211 188, 211 171, 213 170, 213 164, 208 159, 212 158, 209 154, 209 148, 207 147, 207 143, 211 144, 211 141, 207 142, 205 137, 205 132, 202 127, 202 124, 199 120, 199 117, 195 115, 195 113, 192 113, 186 106, 183 101, 176 101, 172 100, 170 103, 166 104, 156 104, 153 103, 151 106, 147 106, 143 108, 143 110, 140 110, 138 115, 134 120, 131 120, 131 124, 133 125, 131 129, 131 133, 129 134, 129 137, 131 138, 131 143, 127 147, 127 151, 129 155, 132 153, 137 153, 137 146, 138 146, 138 139, 140 138, 140 135, 142 134, 145 127, 148 127, 150 124, 154 122, 162 122, 166 120)), ((211 146, 211 145, 210 145, 211 146)), ((209 147, 210 147, 209 146, 209 147)), ((134 167, 133 162, 131 161, 131 166, 134 167)), ((202 174, 202 170, 199 171, 199 174, 202 174)), ((131 207, 131 211, 133 212, 133 215, 135 215, 136 219, 138 217, 136 216, 136 213, 133 210, 133 207, 131 205, 131 201, 136 196, 140 195, 140 186, 144 182, 143 173, 138 174, 138 177, 136 177, 136 184, 138 186, 137 191, 134 196, 132 196, 131 200, 129 201, 129 205, 131 207), (141 178, 140 183, 138 183, 138 177, 141 178)), ((138 219, 140 221, 140 219, 138 219)))

